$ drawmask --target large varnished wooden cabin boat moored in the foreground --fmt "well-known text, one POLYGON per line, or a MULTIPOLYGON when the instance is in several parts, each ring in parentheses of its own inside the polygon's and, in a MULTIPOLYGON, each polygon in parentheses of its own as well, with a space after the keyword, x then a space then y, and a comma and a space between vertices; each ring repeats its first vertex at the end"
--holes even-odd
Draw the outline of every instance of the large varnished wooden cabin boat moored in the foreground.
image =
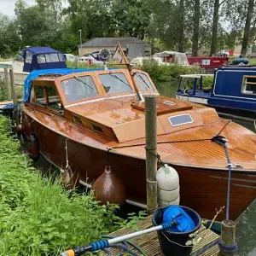
MULTIPOLYGON (((90 186, 104 172, 112 148, 109 164, 127 201, 145 207, 145 105, 136 88, 143 96, 158 95, 148 73, 132 70, 131 77, 127 69, 66 74, 56 69, 41 76, 38 71, 31 86, 21 105, 22 124, 26 137, 33 132, 38 138, 44 157, 62 169, 68 159, 73 175, 90 186)), ((224 148, 211 139, 219 134, 229 140, 234 164, 230 218, 235 219, 256 197, 253 131, 220 119, 214 108, 164 96, 158 96, 157 104, 158 153, 178 172, 180 204, 202 218, 212 218, 226 204, 227 159, 224 148)))

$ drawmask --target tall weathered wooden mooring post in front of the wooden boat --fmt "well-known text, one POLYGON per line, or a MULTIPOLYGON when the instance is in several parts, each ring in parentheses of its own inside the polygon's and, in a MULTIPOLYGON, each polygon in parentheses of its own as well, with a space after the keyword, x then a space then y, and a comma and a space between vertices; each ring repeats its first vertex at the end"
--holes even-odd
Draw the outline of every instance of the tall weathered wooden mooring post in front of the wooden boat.
POLYGON ((156 142, 156 96, 145 96, 145 133, 146 133, 146 178, 147 211, 154 212, 157 203, 157 142, 156 142))

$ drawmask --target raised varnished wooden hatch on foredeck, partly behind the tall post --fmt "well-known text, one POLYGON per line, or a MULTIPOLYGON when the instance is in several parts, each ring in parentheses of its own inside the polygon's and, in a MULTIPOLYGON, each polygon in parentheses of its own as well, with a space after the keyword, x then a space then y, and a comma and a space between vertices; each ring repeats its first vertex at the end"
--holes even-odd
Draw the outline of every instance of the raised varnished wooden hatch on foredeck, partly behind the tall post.
MULTIPOLYGON (((132 102, 131 108, 135 108, 145 112, 145 102, 132 102)), ((172 113, 192 109, 193 106, 189 102, 177 102, 174 99, 157 99, 157 115, 164 113, 172 113)))

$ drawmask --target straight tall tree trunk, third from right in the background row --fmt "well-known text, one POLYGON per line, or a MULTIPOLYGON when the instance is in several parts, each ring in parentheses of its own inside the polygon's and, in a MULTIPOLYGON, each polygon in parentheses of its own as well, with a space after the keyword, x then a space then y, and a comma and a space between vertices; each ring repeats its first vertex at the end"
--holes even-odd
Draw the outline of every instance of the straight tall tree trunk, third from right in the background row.
POLYGON ((192 55, 198 54, 198 41, 199 41, 199 25, 200 25, 200 0, 194 1, 194 28, 192 38, 192 55))

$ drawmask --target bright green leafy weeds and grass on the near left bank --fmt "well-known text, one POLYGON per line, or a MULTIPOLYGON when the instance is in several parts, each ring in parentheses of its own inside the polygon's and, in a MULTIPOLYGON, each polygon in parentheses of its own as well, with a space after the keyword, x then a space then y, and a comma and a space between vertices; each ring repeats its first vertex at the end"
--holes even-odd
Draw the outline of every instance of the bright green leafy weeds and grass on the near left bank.
POLYGON ((66 191, 41 177, 0 116, 0 255, 58 255, 115 228, 117 206, 66 191))

